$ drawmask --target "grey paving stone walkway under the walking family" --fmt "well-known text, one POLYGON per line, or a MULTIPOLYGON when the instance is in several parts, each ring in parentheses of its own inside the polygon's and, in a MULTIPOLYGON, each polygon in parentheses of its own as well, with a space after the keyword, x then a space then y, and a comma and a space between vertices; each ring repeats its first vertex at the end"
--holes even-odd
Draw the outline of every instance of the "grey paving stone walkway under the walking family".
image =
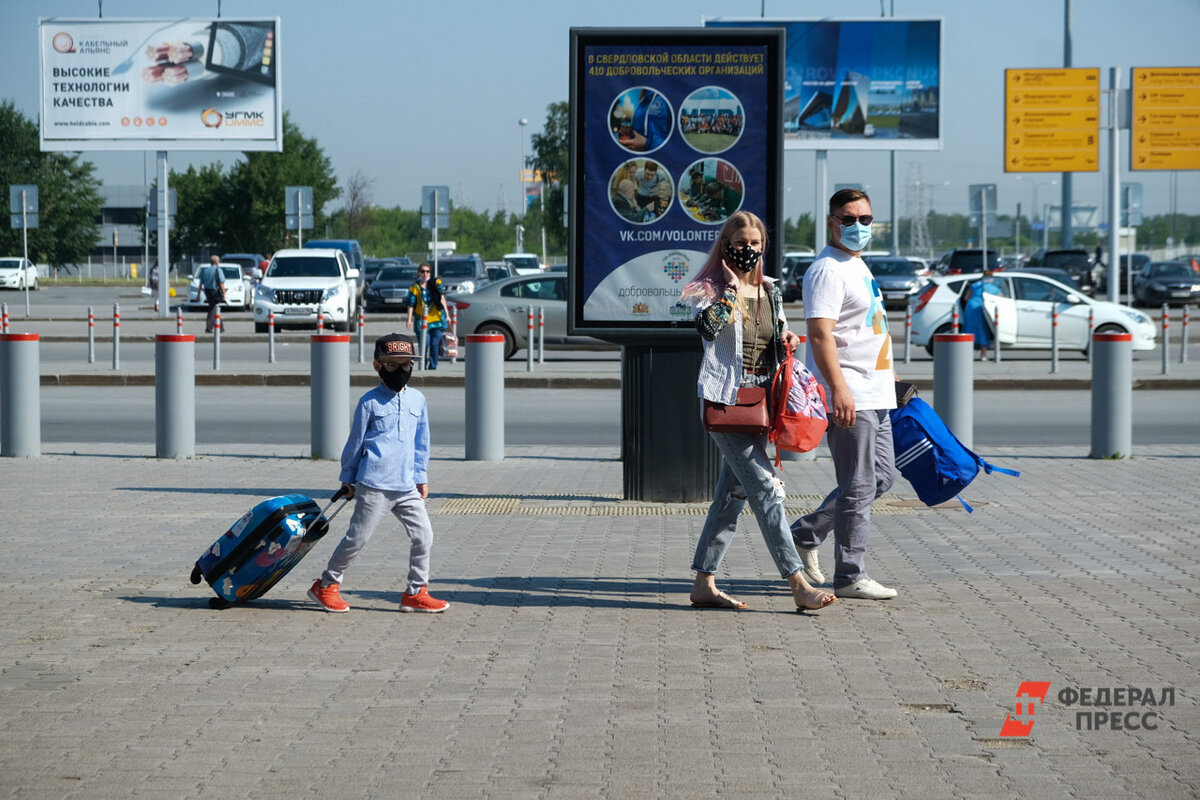
MULTIPOLYGON (((307 601, 344 515, 251 606, 188 582, 254 503, 328 498, 330 462, 4 459, 0 798, 1194 798, 1200 447, 1145 450, 991 450, 1022 476, 982 476, 970 516, 898 485, 869 563, 900 596, 812 614, 750 516, 719 576, 750 610, 690 608, 704 507, 620 500, 608 447, 434 446, 442 615, 396 613, 397 529, 348 572, 350 613, 307 601), (1049 692, 1001 738, 1021 681, 1049 692), (1063 702, 1126 687, 1156 705, 1063 702)), ((785 479, 798 513, 832 465, 785 479)))

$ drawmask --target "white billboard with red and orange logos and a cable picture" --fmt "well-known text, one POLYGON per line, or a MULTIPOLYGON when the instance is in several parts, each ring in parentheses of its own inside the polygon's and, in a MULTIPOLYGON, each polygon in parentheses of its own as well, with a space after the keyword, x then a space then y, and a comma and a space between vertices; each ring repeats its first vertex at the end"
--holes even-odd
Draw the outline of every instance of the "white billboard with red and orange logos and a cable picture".
POLYGON ((283 149, 280 20, 38 20, 42 150, 283 149))

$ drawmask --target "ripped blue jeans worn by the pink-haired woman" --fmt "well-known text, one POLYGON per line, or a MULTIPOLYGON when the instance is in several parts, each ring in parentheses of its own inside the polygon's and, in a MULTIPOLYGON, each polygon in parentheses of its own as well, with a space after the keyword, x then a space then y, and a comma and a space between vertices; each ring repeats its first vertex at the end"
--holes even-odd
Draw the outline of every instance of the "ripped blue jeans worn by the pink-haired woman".
POLYGON ((721 471, 716 476, 713 505, 696 543, 691 569, 715 573, 738 529, 738 517, 746 501, 758 521, 758 530, 767 549, 784 578, 804 566, 792 541, 792 531, 784 510, 784 485, 767 456, 767 434, 748 437, 739 433, 710 433, 721 455, 721 471))

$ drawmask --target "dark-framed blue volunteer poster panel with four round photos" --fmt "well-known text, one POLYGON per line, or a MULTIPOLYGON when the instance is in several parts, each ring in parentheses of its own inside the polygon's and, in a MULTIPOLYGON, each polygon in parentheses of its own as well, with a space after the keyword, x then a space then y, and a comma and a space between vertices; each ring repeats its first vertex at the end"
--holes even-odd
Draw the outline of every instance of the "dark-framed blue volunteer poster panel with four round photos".
POLYGON ((782 31, 571 30, 571 332, 695 336, 683 287, 751 211, 779 273, 782 31))

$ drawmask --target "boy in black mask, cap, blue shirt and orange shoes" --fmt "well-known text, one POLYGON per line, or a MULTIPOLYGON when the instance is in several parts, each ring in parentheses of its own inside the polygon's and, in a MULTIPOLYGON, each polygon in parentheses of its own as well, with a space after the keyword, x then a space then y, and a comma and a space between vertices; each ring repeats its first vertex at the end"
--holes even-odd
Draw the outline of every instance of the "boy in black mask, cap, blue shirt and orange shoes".
POLYGON ((438 614, 450 606, 428 591, 433 543, 433 527, 425 510, 430 493, 430 415, 425 395, 406 387, 415 356, 413 339, 402 333, 376 339, 372 363, 380 384, 359 399, 338 475, 346 497, 355 498, 354 516, 325 572, 308 589, 308 596, 328 612, 350 609, 338 591, 342 573, 388 512, 412 540, 408 589, 401 596, 400 610, 438 614))

